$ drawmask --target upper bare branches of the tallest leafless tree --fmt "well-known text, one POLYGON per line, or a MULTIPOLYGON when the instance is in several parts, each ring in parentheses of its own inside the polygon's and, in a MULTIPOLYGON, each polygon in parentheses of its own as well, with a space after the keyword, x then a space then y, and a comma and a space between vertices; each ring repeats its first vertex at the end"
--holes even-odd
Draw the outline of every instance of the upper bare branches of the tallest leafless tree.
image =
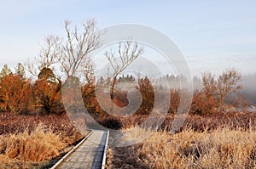
POLYGON ((70 22, 65 21, 67 41, 62 43, 58 63, 67 76, 75 76, 77 72, 83 71, 82 68, 85 65, 90 67, 92 63, 90 52, 101 47, 100 34, 96 31, 95 20, 84 22, 82 29, 79 33, 76 26, 71 29, 70 22))

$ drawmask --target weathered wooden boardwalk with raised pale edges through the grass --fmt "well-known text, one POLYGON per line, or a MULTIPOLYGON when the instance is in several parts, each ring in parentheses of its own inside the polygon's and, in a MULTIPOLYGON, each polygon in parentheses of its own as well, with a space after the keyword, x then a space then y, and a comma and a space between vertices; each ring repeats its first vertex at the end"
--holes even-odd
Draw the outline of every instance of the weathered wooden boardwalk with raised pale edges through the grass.
POLYGON ((74 149, 70 155, 67 155, 67 158, 53 168, 102 168, 102 161, 105 161, 103 154, 106 153, 106 142, 108 143, 108 132, 94 130, 77 149, 74 149))

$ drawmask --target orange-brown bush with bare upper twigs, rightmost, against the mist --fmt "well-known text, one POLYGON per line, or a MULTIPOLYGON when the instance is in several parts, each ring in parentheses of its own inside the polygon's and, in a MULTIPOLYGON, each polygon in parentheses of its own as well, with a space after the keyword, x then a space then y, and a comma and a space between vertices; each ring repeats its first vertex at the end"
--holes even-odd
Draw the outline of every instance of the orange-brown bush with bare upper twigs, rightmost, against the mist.
POLYGON ((203 89, 194 93, 191 111, 209 115, 225 111, 227 104, 224 99, 241 89, 241 74, 235 69, 225 70, 218 78, 211 73, 204 73, 202 82, 203 89))

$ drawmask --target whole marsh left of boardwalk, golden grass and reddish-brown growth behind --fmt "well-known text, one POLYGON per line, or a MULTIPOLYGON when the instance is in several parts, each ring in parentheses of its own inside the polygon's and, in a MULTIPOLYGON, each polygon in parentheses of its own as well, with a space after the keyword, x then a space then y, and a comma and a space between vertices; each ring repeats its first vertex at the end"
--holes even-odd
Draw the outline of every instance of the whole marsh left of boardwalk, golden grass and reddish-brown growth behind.
POLYGON ((49 168, 83 136, 65 115, 1 116, 0 168, 49 168), (6 123, 6 125, 4 125, 6 123))

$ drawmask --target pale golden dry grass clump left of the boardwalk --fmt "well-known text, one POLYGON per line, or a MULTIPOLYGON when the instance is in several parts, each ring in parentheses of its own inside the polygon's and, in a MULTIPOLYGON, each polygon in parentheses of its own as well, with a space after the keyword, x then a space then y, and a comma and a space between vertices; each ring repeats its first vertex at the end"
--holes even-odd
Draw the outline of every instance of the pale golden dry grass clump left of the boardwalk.
POLYGON ((61 136, 39 124, 31 132, 0 136, 0 168, 26 168, 28 162, 49 161, 65 147, 61 136), (21 162, 22 161, 22 162, 21 162))

